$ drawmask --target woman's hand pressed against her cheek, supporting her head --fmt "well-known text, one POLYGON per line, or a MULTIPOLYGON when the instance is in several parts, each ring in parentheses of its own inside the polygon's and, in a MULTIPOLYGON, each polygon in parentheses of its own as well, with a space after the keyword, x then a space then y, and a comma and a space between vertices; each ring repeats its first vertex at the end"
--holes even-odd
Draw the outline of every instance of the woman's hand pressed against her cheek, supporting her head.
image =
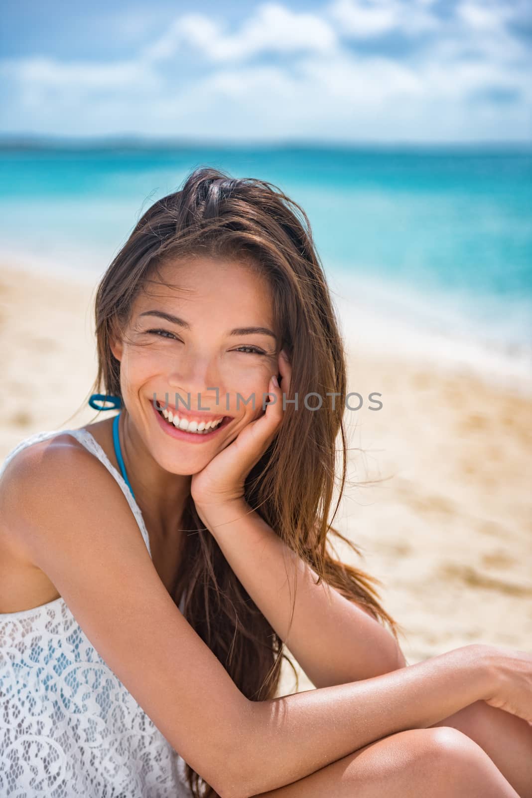
POLYGON ((198 512, 202 507, 212 509, 243 500, 245 478, 276 437, 283 419, 283 393, 288 396, 291 377, 284 350, 280 351, 278 363, 280 386, 272 380, 268 385, 268 393, 275 400, 266 405, 263 415, 250 421, 229 446, 192 476, 190 490, 198 512))

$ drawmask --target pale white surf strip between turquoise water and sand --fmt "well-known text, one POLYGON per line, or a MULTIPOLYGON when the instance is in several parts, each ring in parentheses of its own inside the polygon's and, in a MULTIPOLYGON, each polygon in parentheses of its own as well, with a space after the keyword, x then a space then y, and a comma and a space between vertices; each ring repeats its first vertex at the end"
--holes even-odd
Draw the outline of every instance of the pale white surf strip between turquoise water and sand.
MULTIPOLYGON (((46 275, 50 280, 65 280, 82 289, 94 290, 111 259, 96 271, 88 266, 89 259, 72 268, 66 262, 41 255, 12 251, 6 255, 4 251, 0 271, 6 269, 38 278, 46 275)), ((480 330, 474 323, 468 322, 467 329, 467 305, 460 311, 454 310, 451 296, 445 298, 437 311, 432 311, 424 309, 428 297, 407 287, 397 294, 397 286, 383 288, 334 269, 327 271, 327 282, 348 352, 359 348, 376 358, 387 352, 407 368, 413 361, 428 368, 437 361, 439 368, 448 374, 473 375, 489 385, 532 397, 532 330, 529 346, 524 341, 494 342, 487 338, 486 330, 480 330)), ((526 317, 524 305, 519 312, 526 317)), ((524 332, 523 338, 526 338, 524 332)))

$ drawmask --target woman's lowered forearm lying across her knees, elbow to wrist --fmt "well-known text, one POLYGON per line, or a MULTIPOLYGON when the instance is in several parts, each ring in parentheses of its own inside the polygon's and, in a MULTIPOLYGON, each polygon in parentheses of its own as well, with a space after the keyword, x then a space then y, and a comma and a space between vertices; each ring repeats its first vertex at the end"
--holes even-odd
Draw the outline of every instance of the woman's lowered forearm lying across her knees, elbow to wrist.
POLYGON ((252 796, 291 784, 405 729, 424 729, 491 691, 482 646, 463 646, 364 681, 250 701, 233 788, 252 796))

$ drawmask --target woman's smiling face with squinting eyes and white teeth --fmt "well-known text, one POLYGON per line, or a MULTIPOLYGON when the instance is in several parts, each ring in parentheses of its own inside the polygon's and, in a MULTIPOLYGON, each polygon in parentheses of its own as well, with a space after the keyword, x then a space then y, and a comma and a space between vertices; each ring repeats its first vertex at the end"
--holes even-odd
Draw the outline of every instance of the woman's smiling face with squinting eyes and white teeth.
POLYGON ((170 287, 147 284, 125 340, 111 348, 135 430, 162 468, 190 475, 264 413, 280 342, 270 286, 244 264, 195 258, 168 263, 160 273, 170 287), (155 409, 154 394, 171 422, 155 409), (194 422, 201 430, 220 418, 209 433, 194 432, 194 422))

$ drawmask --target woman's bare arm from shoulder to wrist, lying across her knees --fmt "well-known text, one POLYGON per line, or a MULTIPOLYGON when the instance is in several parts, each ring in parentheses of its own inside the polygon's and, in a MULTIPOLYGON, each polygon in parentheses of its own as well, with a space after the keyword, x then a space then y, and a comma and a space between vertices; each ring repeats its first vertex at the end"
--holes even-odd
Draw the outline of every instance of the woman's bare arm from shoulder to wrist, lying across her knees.
POLYGON ((475 646, 346 685, 248 701, 158 577, 123 492, 89 452, 43 441, 0 481, 2 524, 104 662, 222 798, 289 784, 482 698, 475 646))

